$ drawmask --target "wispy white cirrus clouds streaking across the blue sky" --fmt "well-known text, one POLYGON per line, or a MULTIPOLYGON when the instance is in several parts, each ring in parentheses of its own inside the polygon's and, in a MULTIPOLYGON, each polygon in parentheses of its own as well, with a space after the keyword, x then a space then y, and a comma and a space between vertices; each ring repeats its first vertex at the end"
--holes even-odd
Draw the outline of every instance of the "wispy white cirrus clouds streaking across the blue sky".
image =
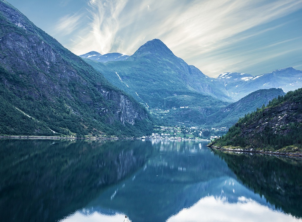
POLYGON ((293 47, 294 43, 290 43, 293 41, 286 42, 276 36, 272 36, 274 42, 263 40, 246 46, 237 55, 232 47, 255 36, 286 28, 286 22, 266 24, 301 8, 300 0, 89 0, 88 26, 87 23, 80 24, 82 14, 74 14, 61 18, 56 29, 66 35, 73 33, 72 41, 65 46, 78 55, 93 50, 101 54, 120 52, 132 55, 146 41, 158 38, 176 56, 214 77, 224 71, 255 72, 252 67, 259 61, 286 54, 274 50, 275 55, 264 53, 263 58, 260 55, 260 58, 253 59, 266 45, 269 47, 280 42, 284 44, 280 50, 298 50, 297 47, 288 48, 293 47), (257 30, 251 32, 252 29, 257 30))

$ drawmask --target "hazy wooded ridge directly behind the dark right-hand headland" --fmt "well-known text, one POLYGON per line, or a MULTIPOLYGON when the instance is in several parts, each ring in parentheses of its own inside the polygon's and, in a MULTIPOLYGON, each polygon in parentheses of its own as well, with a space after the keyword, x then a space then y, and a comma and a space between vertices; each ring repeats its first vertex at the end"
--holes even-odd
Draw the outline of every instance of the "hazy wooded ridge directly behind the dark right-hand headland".
POLYGON ((256 111, 262 105, 278 96, 283 96, 282 89, 261 89, 243 97, 235 103, 223 107, 216 113, 207 117, 207 124, 213 127, 231 127, 240 117, 256 111))

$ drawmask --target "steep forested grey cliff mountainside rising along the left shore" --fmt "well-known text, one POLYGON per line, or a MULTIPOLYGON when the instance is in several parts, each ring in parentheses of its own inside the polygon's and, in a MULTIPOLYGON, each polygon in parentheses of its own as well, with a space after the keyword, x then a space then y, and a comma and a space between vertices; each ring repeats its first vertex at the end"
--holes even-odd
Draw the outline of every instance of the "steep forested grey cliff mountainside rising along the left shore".
MULTIPOLYGON (((0 69, 0 99, 50 128, 36 135, 138 136, 152 130, 143 106, 3 0, 0 69)), ((3 125, 0 134, 27 134, 16 124, 3 125)))

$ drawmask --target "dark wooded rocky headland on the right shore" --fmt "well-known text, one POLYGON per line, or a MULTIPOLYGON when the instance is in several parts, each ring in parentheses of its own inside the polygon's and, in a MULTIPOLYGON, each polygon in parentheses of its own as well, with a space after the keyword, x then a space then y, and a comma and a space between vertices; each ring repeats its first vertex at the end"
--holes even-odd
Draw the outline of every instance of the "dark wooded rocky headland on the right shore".
POLYGON ((301 153, 302 88, 273 99, 246 115, 212 146, 301 153))

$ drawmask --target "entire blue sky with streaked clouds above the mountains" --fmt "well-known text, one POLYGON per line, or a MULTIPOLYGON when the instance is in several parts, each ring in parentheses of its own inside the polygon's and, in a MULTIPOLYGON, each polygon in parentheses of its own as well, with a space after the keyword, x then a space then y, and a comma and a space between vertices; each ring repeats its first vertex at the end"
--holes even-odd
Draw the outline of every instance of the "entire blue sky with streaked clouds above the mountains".
POLYGON ((8 0, 77 55, 162 40, 204 74, 302 69, 302 0, 8 0))

